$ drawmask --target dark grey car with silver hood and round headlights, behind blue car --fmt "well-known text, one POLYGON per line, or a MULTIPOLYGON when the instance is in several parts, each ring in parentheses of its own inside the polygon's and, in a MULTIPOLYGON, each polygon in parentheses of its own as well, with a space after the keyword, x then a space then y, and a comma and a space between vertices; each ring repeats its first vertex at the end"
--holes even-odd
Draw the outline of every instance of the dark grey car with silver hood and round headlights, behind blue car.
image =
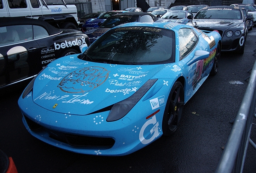
POLYGON ((198 11, 189 25, 200 30, 218 30, 222 39, 222 51, 244 53, 247 36, 247 20, 244 19, 242 8, 234 6, 209 6, 198 11))

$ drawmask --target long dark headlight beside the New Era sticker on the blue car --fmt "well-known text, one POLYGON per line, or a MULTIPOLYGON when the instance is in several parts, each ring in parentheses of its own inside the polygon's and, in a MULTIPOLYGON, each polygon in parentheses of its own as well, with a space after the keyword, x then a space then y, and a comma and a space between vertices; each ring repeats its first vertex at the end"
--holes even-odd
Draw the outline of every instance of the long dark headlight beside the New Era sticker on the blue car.
POLYGON ((134 105, 136 105, 136 103, 138 103, 138 101, 147 93, 147 91, 149 91, 149 89, 156 81, 157 79, 148 80, 132 96, 113 105, 109 112, 109 115, 107 116, 107 121, 116 121, 123 118, 134 107, 134 105))

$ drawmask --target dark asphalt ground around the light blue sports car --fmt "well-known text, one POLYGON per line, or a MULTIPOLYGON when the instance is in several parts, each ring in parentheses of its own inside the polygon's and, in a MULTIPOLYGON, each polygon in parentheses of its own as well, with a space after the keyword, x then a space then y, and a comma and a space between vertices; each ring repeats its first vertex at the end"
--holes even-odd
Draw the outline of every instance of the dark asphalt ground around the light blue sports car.
MULTIPOLYGON (((17 101, 24 86, 0 93, 0 149, 12 157, 19 173, 211 173, 214 172, 241 105, 255 62, 256 27, 245 52, 221 52, 219 72, 209 76, 186 103, 177 131, 122 157, 72 153, 31 136, 17 101), (239 81, 242 84, 231 84, 239 81)), ((255 120, 254 120, 255 121, 255 120)), ((256 126, 251 139, 256 142, 256 126)), ((248 146, 244 173, 256 172, 256 151, 248 146)))

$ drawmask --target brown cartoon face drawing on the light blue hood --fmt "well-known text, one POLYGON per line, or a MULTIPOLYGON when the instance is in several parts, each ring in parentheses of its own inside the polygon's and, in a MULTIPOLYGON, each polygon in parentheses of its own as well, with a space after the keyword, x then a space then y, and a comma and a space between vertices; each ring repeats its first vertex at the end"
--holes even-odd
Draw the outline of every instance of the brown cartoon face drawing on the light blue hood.
POLYGON ((58 87, 66 93, 89 92, 103 84, 108 76, 109 71, 102 67, 79 68, 65 76, 58 87))

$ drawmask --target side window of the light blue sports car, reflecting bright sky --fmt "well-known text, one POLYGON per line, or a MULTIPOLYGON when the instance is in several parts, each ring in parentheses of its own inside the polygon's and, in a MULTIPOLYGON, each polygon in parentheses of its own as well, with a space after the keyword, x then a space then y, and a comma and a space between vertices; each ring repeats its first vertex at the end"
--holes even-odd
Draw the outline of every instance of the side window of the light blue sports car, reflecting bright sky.
POLYGON ((180 60, 194 49, 197 42, 198 38, 190 28, 182 28, 179 30, 180 60))

